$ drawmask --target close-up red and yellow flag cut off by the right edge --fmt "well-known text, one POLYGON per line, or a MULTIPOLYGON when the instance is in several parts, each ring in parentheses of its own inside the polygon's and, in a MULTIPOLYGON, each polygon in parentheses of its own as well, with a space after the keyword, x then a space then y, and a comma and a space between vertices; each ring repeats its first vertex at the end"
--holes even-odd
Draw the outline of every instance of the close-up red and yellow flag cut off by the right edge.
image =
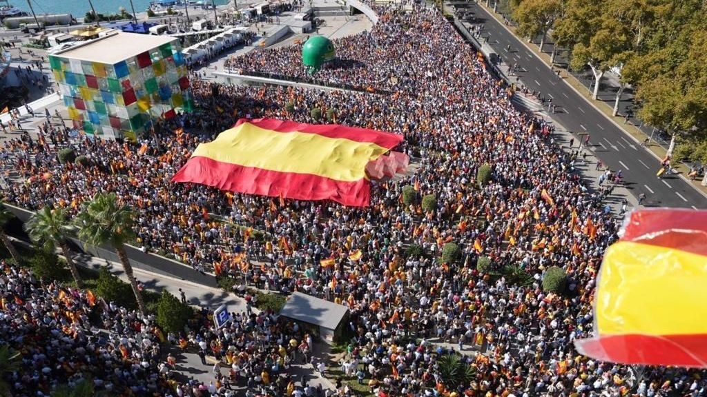
POLYGON ((707 367, 707 211, 634 211, 604 254, 585 355, 707 367))

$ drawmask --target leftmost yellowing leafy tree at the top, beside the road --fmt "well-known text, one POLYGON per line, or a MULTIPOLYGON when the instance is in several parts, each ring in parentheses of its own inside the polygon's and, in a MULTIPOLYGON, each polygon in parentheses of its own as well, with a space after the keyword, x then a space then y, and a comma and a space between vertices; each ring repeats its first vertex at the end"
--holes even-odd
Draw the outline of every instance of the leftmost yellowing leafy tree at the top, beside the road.
POLYGON ((562 13, 561 0, 525 0, 513 8, 513 19, 518 23, 518 34, 532 40, 540 35, 540 52, 547 31, 562 13))

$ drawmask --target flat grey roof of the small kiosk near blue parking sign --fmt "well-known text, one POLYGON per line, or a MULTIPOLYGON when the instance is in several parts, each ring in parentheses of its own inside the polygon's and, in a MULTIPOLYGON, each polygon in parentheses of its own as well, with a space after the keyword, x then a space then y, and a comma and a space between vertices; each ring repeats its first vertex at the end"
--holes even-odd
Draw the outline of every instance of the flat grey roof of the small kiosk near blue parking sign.
POLYGON ((312 295, 294 292, 288 297, 280 316, 303 321, 308 324, 336 329, 349 308, 312 295))

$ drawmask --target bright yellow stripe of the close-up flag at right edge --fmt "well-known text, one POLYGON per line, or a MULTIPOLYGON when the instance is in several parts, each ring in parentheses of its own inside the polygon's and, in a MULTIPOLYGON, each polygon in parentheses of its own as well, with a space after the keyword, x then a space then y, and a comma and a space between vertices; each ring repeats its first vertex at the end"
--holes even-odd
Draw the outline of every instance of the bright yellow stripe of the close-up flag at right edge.
POLYGON ((707 256, 619 241, 604 255, 600 284, 602 335, 707 333, 707 256))

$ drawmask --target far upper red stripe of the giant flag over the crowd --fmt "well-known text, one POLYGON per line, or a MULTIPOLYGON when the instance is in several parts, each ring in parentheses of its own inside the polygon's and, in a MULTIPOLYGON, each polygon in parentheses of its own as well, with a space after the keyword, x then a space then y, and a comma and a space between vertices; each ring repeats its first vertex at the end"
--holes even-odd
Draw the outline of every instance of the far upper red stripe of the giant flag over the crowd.
POLYGON ((262 129, 269 129, 271 131, 298 131, 308 134, 326 136, 327 138, 346 138, 350 141, 362 143, 371 142, 375 143, 376 145, 382 148, 387 149, 394 148, 398 143, 402 142, 403 140, 402 135, 392 134, 390 132, 341 126, 338 124, 304 124, 278 119, 240 119, 235 124, 235 126, 239 126, 243 123, 250 123, 254 126, 258 126, 262 129))

